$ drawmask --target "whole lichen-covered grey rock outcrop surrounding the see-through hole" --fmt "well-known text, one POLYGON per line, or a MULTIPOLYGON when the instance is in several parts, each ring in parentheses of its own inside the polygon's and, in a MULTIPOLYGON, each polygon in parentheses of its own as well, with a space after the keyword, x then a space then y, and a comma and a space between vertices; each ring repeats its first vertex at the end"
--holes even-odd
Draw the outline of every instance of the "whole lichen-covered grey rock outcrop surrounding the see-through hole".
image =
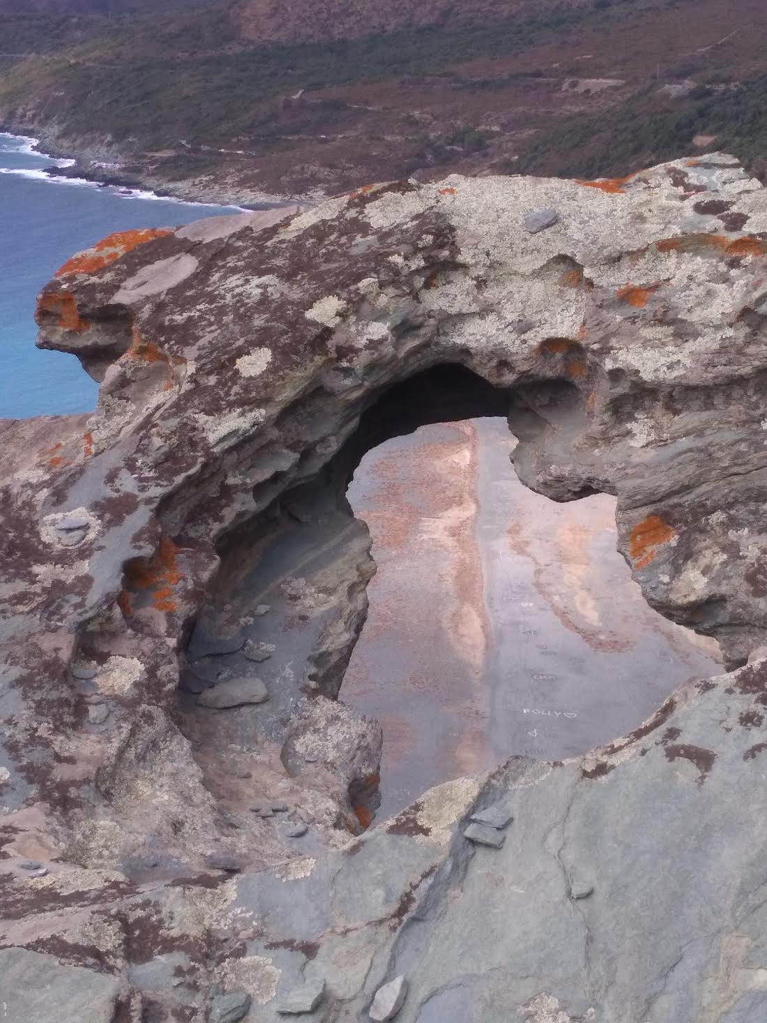
POLYGON ((98 407, 10 424, 2 456, 14 983, 33 953, 62 997, 90 970, 105 1020, 232 995, 265 1023, 307 992, 357 1020, 398 978, 377 1018, 761 1019, 766 255, 764 189, 720 154, 375 185, 65 264, 41 344, 98 407), (617 495, 647 601, 731 671, 353 839, 380 736, 337 699, 374 568, 346 487, 386 438, 483 413, 529 486, 617 495))

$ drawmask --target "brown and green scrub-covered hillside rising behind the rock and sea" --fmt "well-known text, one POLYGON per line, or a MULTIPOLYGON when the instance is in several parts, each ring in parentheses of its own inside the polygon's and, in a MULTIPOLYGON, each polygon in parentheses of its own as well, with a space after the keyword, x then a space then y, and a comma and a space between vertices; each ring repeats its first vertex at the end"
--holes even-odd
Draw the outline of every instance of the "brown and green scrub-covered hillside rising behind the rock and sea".
POLYGON ((6 57, 0 123, 82 154, 78 172, 120 163, 239 202, 450 170, 619 174, 711 146, 764 166, 761 0, 153 11, 51 18, 6 57))

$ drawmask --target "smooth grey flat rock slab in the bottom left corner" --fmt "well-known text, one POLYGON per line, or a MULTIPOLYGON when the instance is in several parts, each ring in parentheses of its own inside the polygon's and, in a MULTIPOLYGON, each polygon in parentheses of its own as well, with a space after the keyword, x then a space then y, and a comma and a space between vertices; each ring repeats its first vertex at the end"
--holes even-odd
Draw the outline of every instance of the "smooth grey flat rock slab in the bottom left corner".
POLYGON ((0 1019, 8 1023, 111 1023, 120 981, 26 948, 0 951, 0 1019))

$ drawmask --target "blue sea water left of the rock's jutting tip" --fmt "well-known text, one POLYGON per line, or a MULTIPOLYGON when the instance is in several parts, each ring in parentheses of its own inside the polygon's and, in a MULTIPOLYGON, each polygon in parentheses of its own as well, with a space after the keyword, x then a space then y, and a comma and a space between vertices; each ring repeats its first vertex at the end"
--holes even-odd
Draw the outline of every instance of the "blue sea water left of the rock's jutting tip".
POLYGON ((0 417, 87 412, 96 384, 74 355, 35 348, 35 298, 70 256, 131 227, 187 224, 231 208, 63 183, 29 139, 0 134, 0 417))

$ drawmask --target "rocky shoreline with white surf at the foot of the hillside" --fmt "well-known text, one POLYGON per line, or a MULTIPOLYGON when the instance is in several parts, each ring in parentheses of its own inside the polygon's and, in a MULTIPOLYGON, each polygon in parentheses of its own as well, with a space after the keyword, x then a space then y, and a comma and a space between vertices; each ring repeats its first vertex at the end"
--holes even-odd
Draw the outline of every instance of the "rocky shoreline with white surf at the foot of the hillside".
MULTIPOLYGON (((82 186, 126 189, 135 198, 164 199, 189 206, 228 206, 239 212, 278 209, 296 204, 316 206, 326 197, 325 195, 273 194, 236 185, 229 190, 226 189, 226 186, 219 190, 215 185, 201 187, 189 179, 180 179, 173 183, 164 182, 159 176, 142 171, 140 166, 128 165, 129 170, 126 172, 126 165, 120 163, 119 154, 115 154, 114 162, 107 163, 109 158, 105 153, 89 153, 88 149, 78 151, 75 146, 69 151, 64 151, 42 129, 40 136, 28 134, 29 130, 29 127, 15 129, 0 122, 0 137, 20 139, 25 143, 22 148, 15 151, 41 157, 50 160, 53 164, 49 168, 29 169, 30 171, 39 170, 40 173, 28 173, 26 176, 41 179, 44 176, 49 180, 57 179, 62 184, 71 182, 82 186), (103 166, 99 166, 101 161, 103 161, 103 166), (86 164, 89 166, 85 166, 86 164), (237 192, 240 194, 238 195, 237 192)), ((22 170, 4 173, 21 173, 22 170)))

